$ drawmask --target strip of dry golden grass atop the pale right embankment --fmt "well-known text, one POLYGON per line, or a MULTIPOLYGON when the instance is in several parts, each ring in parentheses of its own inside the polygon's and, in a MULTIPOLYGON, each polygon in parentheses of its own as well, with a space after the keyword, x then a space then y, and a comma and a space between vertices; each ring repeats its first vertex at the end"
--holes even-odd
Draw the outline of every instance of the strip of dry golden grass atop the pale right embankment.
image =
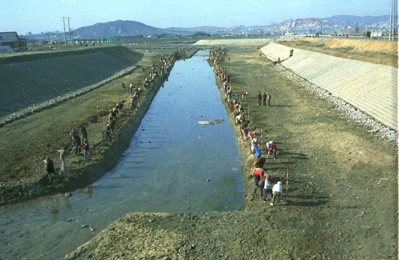
POLYGON ((324 54, 397 68, 397 42, 351 39, 300 38, 280 44, 324 54))

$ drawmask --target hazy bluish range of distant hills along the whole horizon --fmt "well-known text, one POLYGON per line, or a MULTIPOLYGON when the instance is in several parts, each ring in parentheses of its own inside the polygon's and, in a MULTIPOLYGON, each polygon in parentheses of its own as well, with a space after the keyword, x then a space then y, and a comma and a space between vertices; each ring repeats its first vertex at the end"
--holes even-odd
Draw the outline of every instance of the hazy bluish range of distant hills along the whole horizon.
MULTIPOLYGON (((389 15, 381 16, 353 16, 334 15, 326 18, 301 18, 289 19, 281 23, 253 26, 196 26, 190 28, 168 27, 156 28, 137 21, 116 20, 111 22, 96 23, 91 26, 80 27, 73 30, 74 39, 101 39, 122 37, 186 37, 196 35, 211 36, 250 36, 250 35, 283 35, 286 32, 292 34, 332 34, 334 32, 345 32, 352 28, 354 32, 361 33, 366 30, 383 31, 389 29, 389 15)), ((50 34, 32 35, 33 38, 62 39, 61 32, 50 34)))

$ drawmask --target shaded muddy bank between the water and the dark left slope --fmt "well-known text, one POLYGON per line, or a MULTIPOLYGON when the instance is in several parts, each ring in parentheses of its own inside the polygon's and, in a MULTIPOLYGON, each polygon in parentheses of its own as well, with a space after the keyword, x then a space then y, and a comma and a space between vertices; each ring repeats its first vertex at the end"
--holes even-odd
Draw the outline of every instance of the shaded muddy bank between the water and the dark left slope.
MULTIPOLYGON (((195 51, 190 49, 186 57, 192 56, 195 51)), ((163 52, 167 53, 167 51, 163 52)), ((149 66, 159 60, 161 54, 162 52, 146 53, 147 57, 138 63, 138 66, 144 67, 143 71, 140 68, 82 96, 1 127, 0 132, 5 138, 3 148, 0 149, 0 157, 2 157, 0 169, 5 174, 0 179, 0 205, 83 188, 112 169, 119 159, 114 154, 121 154, 128 147, 129 140, 134 135, 132 129, 137 129, 140 125, 170 71, 158 78, 154 86, 142 95, 140 106, 136 110, 128 109, 130 94, 121 93, 120 84, 121 82, 144 81, 147 73, 150 73, 149 66), (112 142, 104 142, 105 124, 103 122, 107 121, 107 111, 122 99, 126 100, 127 109, 118 116, 117 129, 112 142), (77 124, 87 128, 93 160, 87 164, 83 161, 82 155, 74 155, 68 149, 67 170, 59 172, 57 182, 49 183, 43 171, 42 160, 45 156, 43 154, 46 152, 52 156, 55 167, 59 168, 59 154, 53 149, 71 145, 68 131, 77 124), (29 129, 28 133, 25 132, 27 129, 29 129), (11 153, 7 150, 10 145, 10 142, 6 142, 8 138, 15 140, 12 142, 14 148, 11 153)))

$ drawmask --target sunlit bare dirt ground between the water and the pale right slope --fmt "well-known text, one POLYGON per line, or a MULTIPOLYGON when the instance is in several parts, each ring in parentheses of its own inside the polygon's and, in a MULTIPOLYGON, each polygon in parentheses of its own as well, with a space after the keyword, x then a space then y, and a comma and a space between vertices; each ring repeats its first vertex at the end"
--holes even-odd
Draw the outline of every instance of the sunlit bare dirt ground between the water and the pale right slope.
POLYGON ((233 93, 249 92, 243 101, 249 127, 263 130, 263 143, 278 145, 267 173, 275 183, 289 169, 282 204, 261 202, 247 178, 254 160, 249 142, 234 126, 247 189, 241 210, 130 213, 65 258, 395 259, 396 146, 313 98, 258 51, 229 49, 228 55, 222 66, 233 93), (256 105, 258 91, 271 93, 270 107, 256 105))

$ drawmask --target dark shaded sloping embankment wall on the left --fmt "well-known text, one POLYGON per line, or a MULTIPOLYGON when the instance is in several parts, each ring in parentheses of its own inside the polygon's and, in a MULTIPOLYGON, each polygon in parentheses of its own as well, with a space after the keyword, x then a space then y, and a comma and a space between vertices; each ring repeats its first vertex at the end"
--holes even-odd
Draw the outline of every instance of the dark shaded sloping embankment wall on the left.
POLYGON ((132 62, 123 57, 126 50, 111 47, 68 56, 54 53, 54 57, 0 64, 0 116, 77 91, 131 67, 132 62))

